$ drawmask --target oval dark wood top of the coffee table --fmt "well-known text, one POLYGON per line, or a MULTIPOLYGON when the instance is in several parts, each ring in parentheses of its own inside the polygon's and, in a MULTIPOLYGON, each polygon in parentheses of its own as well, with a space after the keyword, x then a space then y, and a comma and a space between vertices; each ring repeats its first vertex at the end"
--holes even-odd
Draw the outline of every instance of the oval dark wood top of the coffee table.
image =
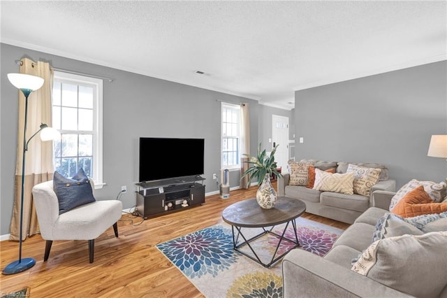
POLYGON ((298 218, 305 211, 306 204, 299 199, 278 197, 271 209, 261 208, 256 199, 246 199, 225 208, 222 218, 237 227, 270 227, 298 218))

